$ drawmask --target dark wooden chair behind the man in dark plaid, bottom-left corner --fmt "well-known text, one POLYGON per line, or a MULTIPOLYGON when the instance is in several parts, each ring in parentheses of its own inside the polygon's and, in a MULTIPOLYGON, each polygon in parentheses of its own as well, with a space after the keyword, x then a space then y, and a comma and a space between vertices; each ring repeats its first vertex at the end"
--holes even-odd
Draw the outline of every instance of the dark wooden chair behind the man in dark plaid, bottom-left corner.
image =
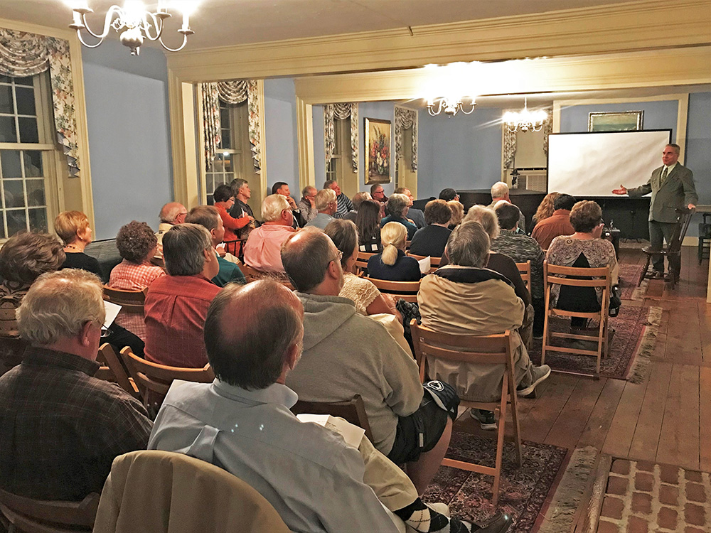
POLYGON ((99 495, 92 492, 81 502, 33 500, 0 490, 0 511, 22 533, 90 532, 94 527, 99 495))

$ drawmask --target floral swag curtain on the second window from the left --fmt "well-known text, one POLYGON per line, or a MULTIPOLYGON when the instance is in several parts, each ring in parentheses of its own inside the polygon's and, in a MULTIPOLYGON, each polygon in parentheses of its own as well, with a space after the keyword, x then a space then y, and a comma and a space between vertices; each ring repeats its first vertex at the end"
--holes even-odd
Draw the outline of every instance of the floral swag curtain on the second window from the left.
POLYGON ((215 153, 220 147, 220 100, 227 104, 241 104, 247 100, 249 135, 255 171, 261 172, 262 134, 260 131, 260 102, 257 80, 232 80, 201 83, 203 95, 203 129, 205 130, 205 163, 213 166, 215 153))

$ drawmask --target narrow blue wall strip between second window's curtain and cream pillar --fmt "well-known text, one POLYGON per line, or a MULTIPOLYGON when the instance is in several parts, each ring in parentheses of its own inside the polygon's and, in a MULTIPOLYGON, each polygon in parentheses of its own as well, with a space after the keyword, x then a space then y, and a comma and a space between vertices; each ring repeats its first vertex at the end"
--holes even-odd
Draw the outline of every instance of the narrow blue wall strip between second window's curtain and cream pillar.
POLYGON ((298 201, 301 195, 293 78, 264 80, 264 128, 269 188, 277 181, 289 183, 292 196, 298 201))

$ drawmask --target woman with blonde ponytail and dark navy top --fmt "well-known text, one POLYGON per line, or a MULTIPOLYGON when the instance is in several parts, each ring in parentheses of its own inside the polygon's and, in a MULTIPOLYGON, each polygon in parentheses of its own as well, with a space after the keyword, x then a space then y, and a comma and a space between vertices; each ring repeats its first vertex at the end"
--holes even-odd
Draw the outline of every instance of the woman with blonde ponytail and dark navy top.
POLYGON ((406 238, 407 230, 400 222, 383 226, 380 229, 383 252, 368 259, 368 276, 387 281, 419 281, 422 273, 417 259, 405 255, 406 238))

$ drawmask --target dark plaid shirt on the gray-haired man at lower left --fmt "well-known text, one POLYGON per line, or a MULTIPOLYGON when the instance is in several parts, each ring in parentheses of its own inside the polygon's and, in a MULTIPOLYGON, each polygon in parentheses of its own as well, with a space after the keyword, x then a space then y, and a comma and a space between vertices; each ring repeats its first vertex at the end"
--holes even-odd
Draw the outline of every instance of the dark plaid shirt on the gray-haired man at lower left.
POLYGON ((92 375, 99 364, 27 348, 0 377, 0 485, 39 500, 101 492, 116 456, 146 448, 146 409, 92 375))

